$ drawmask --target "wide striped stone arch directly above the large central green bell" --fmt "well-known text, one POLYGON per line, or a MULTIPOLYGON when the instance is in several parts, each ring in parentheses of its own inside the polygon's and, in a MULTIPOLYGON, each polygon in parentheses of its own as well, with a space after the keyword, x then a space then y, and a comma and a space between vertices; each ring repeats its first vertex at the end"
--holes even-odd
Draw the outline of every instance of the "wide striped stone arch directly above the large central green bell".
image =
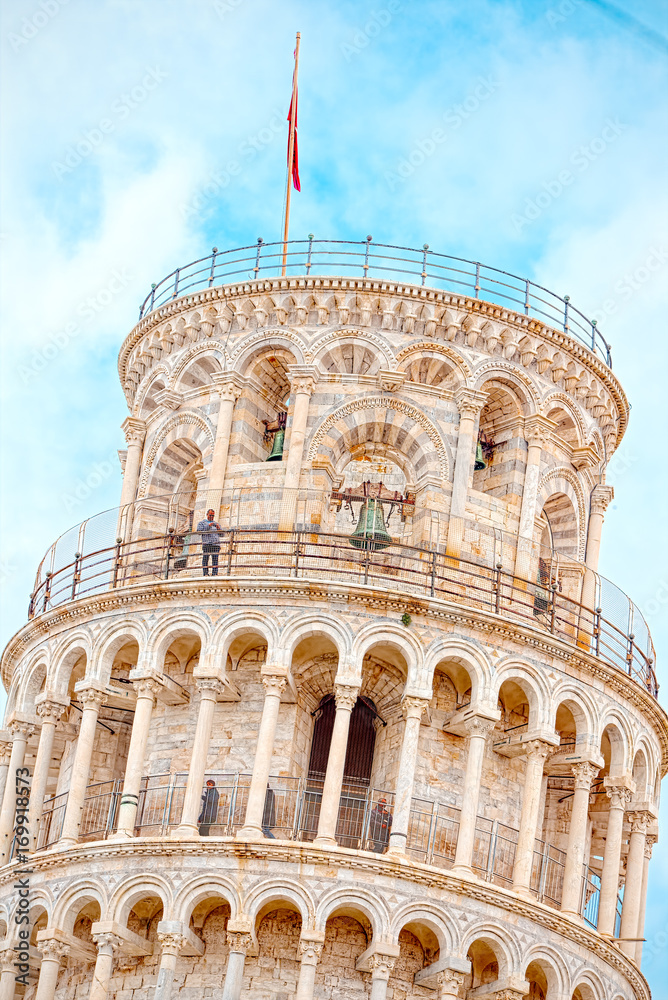
POLYGON ((339 406, 314 432, 307 458, 341 471, 350 457, 368 453, 387 455, 412 483, 428 475, 443 482, 449 477, 445 441, 424 413, 405 400, 370 396, 339 406))

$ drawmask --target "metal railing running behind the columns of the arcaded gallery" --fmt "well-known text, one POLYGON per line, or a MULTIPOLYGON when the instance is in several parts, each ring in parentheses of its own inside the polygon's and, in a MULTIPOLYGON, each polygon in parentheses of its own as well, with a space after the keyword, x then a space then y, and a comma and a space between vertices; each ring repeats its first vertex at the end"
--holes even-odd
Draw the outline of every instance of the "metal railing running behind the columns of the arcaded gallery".
MULTIPOLYGON (((164 837, 181 822, 187 774, 150 775, 142 778, 137 806, 135 835, 164 837)), ((209 771, 213 793, 205 799, 198 816, 199 831, 207 837, 232 837, 246 817, 251 775, 209 771)), ((262 828, 270 839, 312 841, 318 831, 324 780, 272 775, 265 798, 262 828)), ((89 785, 84 799, 79 840, 105 840, 116 830, 122 781, 116 779, 89 785)), ((62 835, 68 793, 44 802, 37 850, 57 844, 62 835)), ((341 847, 382 854, 392 831, 394 793, 373 788, 362 781, 346 779, 342 787, 336 824, 341 847)), ((406 850, 416 860, 437 868, 451 868, 457 848, 460 810, 447 803, 415 797, 411 801, 406 850)), ((473 870, 484 881, 509 888, 513 880, 518 830, 497 820, 478 816, 473 870)), ((536 840, 531 871, 531 891, 541 901, 558 907, 563 890, 566 855, 536 840)), ((595 927, 598 919, 600 877, 590 868, 583 872, 581 912, 595 927)), ((621 919, 621 896, 617 902, 617 925, 621 919)), ((618 933, 618 928, 616 933, 618 933)))

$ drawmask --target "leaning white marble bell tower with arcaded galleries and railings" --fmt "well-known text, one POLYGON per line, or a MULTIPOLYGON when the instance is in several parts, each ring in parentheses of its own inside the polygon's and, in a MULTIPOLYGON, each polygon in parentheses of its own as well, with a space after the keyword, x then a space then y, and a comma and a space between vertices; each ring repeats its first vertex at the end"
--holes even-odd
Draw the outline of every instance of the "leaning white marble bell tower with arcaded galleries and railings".
POLYGON ((258 241, 154 286, 119 375, 119 506, 1 661, 0 1000, 649 1000, 668 720, 597 571, 595 323, 258 241))

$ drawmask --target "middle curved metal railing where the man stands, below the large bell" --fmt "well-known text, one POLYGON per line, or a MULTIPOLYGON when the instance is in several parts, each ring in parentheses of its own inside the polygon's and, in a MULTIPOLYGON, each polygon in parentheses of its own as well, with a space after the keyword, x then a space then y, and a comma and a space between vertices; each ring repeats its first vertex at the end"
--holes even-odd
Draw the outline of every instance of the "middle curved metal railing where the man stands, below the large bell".
MULTIPOLYGON (((603 614, 549 587, 514 576, 497 565, 452 558, 436 548, 373 540, 360 547, 346 535, 310 531, 238 528, 221 530, 215 552, 203 555, 197 533, 184 542, 164 535, 77 553, 73 562, 47 576, 32 594, 29 616, 74 600, 137 583, 207 576, 341 580, 416 597, 437 597, 497 615, 512 615, 574 643, 623 670, 654 697, 653 658, 603 614)), ((359 539, 358 539, 359 541, 359 539)), ((208 545, 207 548, 211 546, 208 545)))

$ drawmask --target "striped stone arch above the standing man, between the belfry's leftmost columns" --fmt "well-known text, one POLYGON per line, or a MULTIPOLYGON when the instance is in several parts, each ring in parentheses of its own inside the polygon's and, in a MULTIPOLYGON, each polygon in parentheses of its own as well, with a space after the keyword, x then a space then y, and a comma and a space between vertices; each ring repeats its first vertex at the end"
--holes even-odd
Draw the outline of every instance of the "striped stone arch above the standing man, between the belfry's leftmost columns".
POLYGON ((175 461, 177 470, 181 468, 185 472, 188 463, 197 461, 197 456, 202 465, 206 465, 213 453, 215 433, 211 422, 202 413, 195 410, 184 410, 170 417, 157 432, 148 453, 143 461, 143 471, 139 482, 137 496, 139 499, 147 496, 150 492, 154 496, 164 496, 166 493, 176 492, 178 482, 178 471, 167 475, 170 482, 173 480, 173 488, 169 488, 162 483, 152 488, 155 482, 157 465, 168 453, 169 458, 175 461), (181 442, 183 442, 181 444, 181 442), (176 446, 176 449, 174 448, 176 446), (179 447, 182 454, 178 453, 179 447), (170 448, 174 451, 171 455, 170 448))

